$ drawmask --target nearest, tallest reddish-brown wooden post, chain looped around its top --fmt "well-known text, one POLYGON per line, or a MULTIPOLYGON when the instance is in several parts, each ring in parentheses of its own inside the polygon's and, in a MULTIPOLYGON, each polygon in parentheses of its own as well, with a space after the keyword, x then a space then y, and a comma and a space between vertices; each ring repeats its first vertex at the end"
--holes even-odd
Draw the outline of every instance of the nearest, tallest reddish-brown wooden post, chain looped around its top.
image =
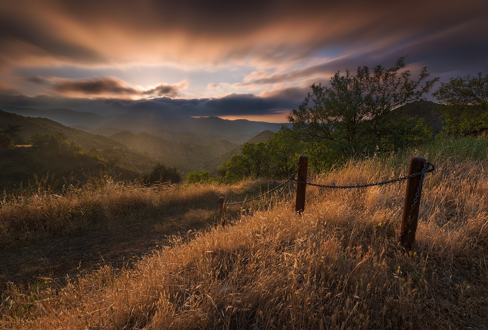
MULTIPOLYGON (((408 175, 422 172, 426 159, 424 157, 410 158, 410 165, 408 166, 408 175)), ((420 177, 415 176, 407 180, 407 190, 405 192, 405 205, 403 207, 402 227, 400 229, 400 245, 407 251, 411 251, 413 243, 415 242, 415 232, 417 231, 417 221, 419 219, 420 197, 422 189, 420 189, 417 203, 412 209, 412 204, 415 199, 415 194, 420 184, 420 177)))

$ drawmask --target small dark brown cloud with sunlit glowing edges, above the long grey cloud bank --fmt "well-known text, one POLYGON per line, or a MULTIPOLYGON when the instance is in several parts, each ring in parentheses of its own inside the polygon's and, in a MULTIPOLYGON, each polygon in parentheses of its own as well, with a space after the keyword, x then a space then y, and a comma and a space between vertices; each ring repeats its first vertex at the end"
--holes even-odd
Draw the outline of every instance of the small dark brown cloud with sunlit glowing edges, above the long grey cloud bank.
POLYGON ((47 92, 63 94, 66 96, 98 96, 98 97, 120 97, 142 98, 158 96, 177 96, 182 88, 187 86, 186 82, 175 85, 160 83, 155 87, 142 88, 133 87, 126 82, 113 78, 102 77, 94 79, 63 79, 57 77, 27 76, 25 80, 49 85, 47 92))

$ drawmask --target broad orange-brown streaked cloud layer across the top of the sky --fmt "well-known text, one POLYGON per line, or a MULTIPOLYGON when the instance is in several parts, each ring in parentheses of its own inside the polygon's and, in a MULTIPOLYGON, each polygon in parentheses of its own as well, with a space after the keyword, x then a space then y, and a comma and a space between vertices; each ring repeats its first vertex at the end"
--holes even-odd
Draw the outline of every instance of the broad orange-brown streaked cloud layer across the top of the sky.
MULTIPOLYGON (((324 49, 394 47, 464 22, 472 22, 471 39, 484 40, 488 3, 18 0, 0 9, 0 58, 10 65, 276 65, 324 49)), ((441 48, 466 44, 442 40, 441 48)))

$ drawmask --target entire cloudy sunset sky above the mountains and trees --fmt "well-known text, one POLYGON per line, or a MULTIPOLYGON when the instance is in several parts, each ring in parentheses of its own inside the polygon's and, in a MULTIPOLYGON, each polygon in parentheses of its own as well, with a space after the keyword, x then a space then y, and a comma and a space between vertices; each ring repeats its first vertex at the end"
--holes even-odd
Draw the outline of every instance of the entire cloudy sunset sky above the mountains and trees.
POLYGON ((339 70, 487 74, 487 31, 486 0, 3 0, 0 109, 286 122, 339 70))

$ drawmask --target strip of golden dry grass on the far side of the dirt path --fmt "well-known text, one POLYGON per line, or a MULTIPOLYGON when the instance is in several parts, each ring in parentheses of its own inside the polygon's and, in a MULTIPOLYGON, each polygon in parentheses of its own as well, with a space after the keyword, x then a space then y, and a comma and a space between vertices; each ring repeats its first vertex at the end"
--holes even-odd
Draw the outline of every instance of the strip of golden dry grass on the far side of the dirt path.
MULTIPOLYGON (((110 225, 140 212, 158 212, 199 202, 216 204, 220 196, 239 194, 264 181, 244 180, 232 186, 212 184, 155 185, 116 182, 103 177, 96 184, 69 186, 54 193, 46 178, 17 195, 0 199, 0 248, 99 225, 110 225)), ((139 219, 139 213, 138 219, 139 219)))

